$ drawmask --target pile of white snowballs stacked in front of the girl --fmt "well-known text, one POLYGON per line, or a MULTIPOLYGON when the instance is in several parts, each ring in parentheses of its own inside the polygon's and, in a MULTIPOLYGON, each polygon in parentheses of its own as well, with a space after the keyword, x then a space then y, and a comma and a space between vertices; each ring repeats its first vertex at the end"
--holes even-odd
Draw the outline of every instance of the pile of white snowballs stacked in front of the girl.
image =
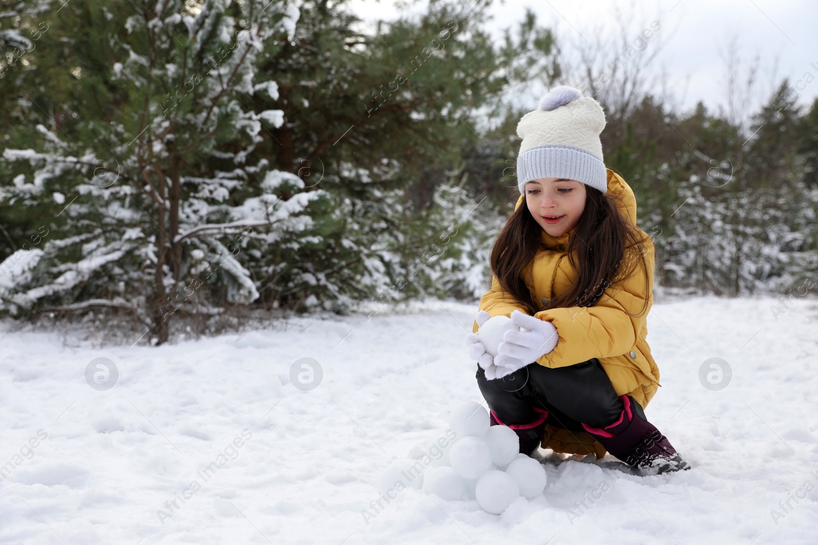
MULTIPOLYGON (((500 515, 520 496, 535 498, 546 487, 540 462, 519 453, 519 437, 510 427, 490 426, 483 405, 468 401, 452 411, 449 426, 456 434, 438 463, 410 486, 447 501, 477 500, 484 511, 500 515)), ((448 435, 448 434, 447 434, 448 435)), ((407 476, 407 464, 393 465, 381 487, 407 476)))

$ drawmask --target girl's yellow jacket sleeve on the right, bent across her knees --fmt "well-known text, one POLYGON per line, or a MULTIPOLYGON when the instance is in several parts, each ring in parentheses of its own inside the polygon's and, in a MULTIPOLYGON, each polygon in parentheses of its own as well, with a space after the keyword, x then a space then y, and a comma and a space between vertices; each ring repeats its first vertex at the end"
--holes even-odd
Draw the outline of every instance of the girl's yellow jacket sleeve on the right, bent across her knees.
POLYGON ((629 266, 628 261, 636 259, 636 271, 629 278, 605 288, 593 306, 555 308, 535 314, 537 318, 554 324, 560 336, 554 350, 542 355, 538 364, 564 367, 633 350, 654 303, 654 244, 649 237, 642 243, 647 265, 647 292, 639 251, 634 247, 627 248, 622 267, 629 266))

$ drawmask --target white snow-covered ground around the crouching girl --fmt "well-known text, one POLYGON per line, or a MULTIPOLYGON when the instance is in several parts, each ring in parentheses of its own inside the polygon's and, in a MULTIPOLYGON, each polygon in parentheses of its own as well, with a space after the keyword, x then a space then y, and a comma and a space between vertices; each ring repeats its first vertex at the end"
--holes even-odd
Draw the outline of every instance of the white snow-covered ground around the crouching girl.
POLYGON ((818 543, 818 310, 797 299, 776 319, 775 305, 651 310, 663 387, 645 412, 691 471, 631 476, 542 451, 545 492, 501 516, 416 489, 372 507, 390 462, 483 401, 463 346, 476 305, 159 348, 68 348, 2 324, 0 543, 818 543), (305 357, 323 371, 311 391, 290 379, 305 357), (732 370, 719 391, 699 380, 713 357, 732 370), (97 358, 119 370, 110 390, 86 382, 97 358))

